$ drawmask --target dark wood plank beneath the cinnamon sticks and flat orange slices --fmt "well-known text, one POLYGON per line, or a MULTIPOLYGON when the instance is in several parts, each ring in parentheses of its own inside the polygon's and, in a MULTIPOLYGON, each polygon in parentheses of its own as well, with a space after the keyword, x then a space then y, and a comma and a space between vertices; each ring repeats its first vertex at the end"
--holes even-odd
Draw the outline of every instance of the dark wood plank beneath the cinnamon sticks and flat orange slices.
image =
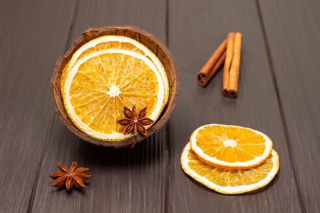
POLYGON ((181 76, 179 102, 169 123, 169 212, 303 212, 255 1, 170 1, 169 49, 181 76), (231 31, 243 34, 239 96, 222 96, 222 70, 206 88, 196 74, 231 31), (210 124, 251 127, 269 135, 280 171, 266 187, 222 195, 196 183, 179 158, 193 130, 210 124))

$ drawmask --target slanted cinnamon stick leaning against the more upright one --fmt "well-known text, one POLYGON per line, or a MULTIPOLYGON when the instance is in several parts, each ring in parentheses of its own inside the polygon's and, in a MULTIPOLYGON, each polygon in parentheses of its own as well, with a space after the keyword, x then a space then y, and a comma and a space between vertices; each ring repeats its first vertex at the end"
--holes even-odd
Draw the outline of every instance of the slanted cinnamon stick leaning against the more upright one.
POLYGON ((219 45, 218 49, 210 56, 207 63, 201 68, 197 75, 198 84, 202 87, 208 84, 214 74, 218 71, 225 59, 226 39, 219 45))

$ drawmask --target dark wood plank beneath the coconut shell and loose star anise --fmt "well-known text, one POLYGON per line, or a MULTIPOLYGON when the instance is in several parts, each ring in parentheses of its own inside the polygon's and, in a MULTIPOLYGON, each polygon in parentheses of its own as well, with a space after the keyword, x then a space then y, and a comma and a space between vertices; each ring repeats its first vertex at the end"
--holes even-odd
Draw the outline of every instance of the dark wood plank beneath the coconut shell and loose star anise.
MULTIPOLYGON (((67 44, 90 27, 131 24, 165 41, 165 1, 80 1, 67 44)), ((97 147, 68 131, 55 116, 33 212, 164 212, 167 162, 166 127, 133 150, 97 147), (56 162, 77 161, 92 177, 84 190, 66 193, 49 186, 56 162)))

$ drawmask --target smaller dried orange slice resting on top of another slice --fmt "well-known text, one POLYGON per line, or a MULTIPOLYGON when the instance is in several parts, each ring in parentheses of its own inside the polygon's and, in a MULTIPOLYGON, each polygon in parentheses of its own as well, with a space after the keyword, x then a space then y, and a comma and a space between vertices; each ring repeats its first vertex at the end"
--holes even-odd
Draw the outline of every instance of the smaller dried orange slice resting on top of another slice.
POLYGON ((250 128, 209 124, 196 129, 191 137, 192 150, 203 160, 232 168, 251 168, 267 159, 271 139, 250 128))

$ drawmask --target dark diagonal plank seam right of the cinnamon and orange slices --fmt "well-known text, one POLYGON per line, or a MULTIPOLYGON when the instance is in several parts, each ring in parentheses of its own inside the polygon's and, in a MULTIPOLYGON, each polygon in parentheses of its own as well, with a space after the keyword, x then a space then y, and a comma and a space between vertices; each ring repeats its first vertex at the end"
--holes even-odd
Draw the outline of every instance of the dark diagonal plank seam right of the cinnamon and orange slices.
POLYGON ((277 83, 277 78, 276 78, 275 66, 273 65, 272 58, 271 58, 271 51, 270 51, 270 48, 269 48, 269 43, 268 43, 268 39, 267 39, 267 35, 266 35, 264 22, 263 22, 261 7, 260 7, 259 0, 255 0, 255 2, 256 2, 256 6, 257 6, 259 22, 260 22, 260 25, 261 25, 263 41, 264 41, 265 49, 266 49, 266 52, 267 52, 267 58, 268 58, 270 72, 271 72, 271 76, 272 76, 272 80, 273 80, 273 85, 275 86, 275 89, 276 89, 276 96, 277 96, 277 101, 278 101, 278 105, 279 105, 281 120, 282 120, 283 128, 284 128, 284 131, 285 131, 285 136, 286 136, 286 140, 287 140, 287 146, 288 146, 288 150, 289 150, 290 160, 291 160, 291 163, 292 163, 294 181, 295 181, 296 187, 298 188, 299 199, 300 199, 300 203, 302 205, 302 211, 306 212, 305 205, 304 205, 304 202, 303 202, 303 199, 302 199, 302 195, 301 195, 301 189, 300 189, 300 186, 298 184, 298 178, 297 178, 296 172, 295 172, 293 158, 292 158, 292 155, 291 155, 291 148, 290 148, 290 144, 291 143, 290 143, 289 131, 288 131, 287 122, 286 122, 286 119, 285 119, 285 116, 284 116, 284 111, 283 111, 283 107, 282 107, 282 102, 281 102, 278 83, 277 83))

